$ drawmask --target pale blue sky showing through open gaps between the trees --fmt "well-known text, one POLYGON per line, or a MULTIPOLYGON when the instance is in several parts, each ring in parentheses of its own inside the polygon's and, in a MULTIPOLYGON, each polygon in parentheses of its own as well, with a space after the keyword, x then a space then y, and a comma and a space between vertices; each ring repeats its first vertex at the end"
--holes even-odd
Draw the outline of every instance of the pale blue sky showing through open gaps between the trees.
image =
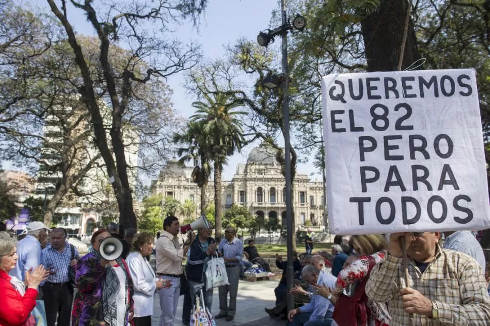
MULTIPOLYGON (((34 0, 29 3, 48 10, 45 0, 34 0)), ((280 2, 276 0, 209 0, 199 29, 193 28, 191 23, 184 23, 177 28, 173 36, 183 42, 194 40, 200 43, 204 60, 218 59, 225 55, 225 45, 234 44, 241 37, 257 39, 258 33, 269 27, 272 11, 279 8, 280 2)), ((69 8, 68 16, 77 33, 94 34, 93 28, 86 22, 80 11, 73 7, 69 8)), ((168 79, 168 84, 173 90, 174 108, 182 117, 188 118, 194 113, 191 103, 195 97, 188 94, 182 86, 184 77, 183 74, 171 76, 168 79)), ((233 178, 237 164, 246 162, 250 150, 257 145, 253 144, 243 148, 241 153, 237 153, 228 159, 228 164, 223 170, 224 180, 233 178)), ((3 162, 2 165, 3 169, 14 169, 9 162, 3 162)), ((311 162, 298 166, 298 173, 301 174, 310 174, 314 171, 317 170, 311 162)), ((321 180, 319 173, 316 173, 313 178, 321 180)))

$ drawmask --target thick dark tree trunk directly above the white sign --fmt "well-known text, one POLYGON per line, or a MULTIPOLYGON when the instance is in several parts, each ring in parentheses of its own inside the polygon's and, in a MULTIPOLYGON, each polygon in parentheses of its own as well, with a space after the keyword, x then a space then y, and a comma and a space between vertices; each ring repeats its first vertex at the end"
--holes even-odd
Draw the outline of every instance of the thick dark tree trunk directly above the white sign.
MULTIPOLYGON (((381 0, 378 9, 364 18, 361 26, 369 72, 398 70, 407 9, 407 0, 381 0)), ((420 53, 410 19, 402 70, 418 59, 420 53)))

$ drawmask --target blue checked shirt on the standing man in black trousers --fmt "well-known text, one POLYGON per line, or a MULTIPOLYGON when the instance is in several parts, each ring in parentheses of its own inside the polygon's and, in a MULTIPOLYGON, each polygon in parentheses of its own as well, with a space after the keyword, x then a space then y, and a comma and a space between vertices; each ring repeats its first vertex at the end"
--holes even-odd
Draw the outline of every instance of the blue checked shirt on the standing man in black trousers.
MULTIPOLYGON (((75 249, 75 259, 79 259, 78 250, 75 249)), ((62 253, 51 246, 51 243, 42 249, 42 255, 46 261, 46 268, 53 268, 56 270, 55 275, 49 275, 47 282, 51 283, 66 283, 70 281, 68 276, 68 267, 71 261, 71 248, 70 244, 65 241, 65 249, 62 253)))

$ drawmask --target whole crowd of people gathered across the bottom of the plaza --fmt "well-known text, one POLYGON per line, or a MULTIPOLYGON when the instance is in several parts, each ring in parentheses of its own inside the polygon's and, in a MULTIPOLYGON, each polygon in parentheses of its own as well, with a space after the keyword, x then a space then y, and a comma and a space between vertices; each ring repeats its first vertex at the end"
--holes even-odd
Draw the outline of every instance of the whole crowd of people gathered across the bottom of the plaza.
MULTIPOLYGON (((189 324, 195 297, 211 311, 213 289, 207 288, 206 269, 213 256, 222 257, 228 285, 218 287, 219 313, 215 319, 232 321, 238 283, 250 262, 270 271, 253 240, 243 247, 236 230, 211 237, 202 228, 179 240, 176 216, 163 222, 163 232, 115 224, 90 238, 89 252, 80 256, 67 241, 64 229, 41 222, 27 226, 21 240, 0 232, 0 325, 35 325, 32 311, 43 300, 48 326, 149 326, 154 296, 160 302, 160 326, 173 325, 179 297, 184 296, 182 322, 189 324), (117 237, 122 254, 107 260, 101 244, 117 237), (150 263, 155 252, 156 268, 150 263), (185 265, 183 261, 186 260, 185 265)), ((292 326, 486 325, 490 320, 490 263, 469 231, 417 232, 390 235, 336 236, 331 252, 313 252, 313 235, 304 253, 293 253, 295 286, 287 289, 287 261, 277 255, 283 270, 274 290, 273 318, 292 326), (404 237, 401 237, 401 236, 404 237), (402 270, 401 241, 408 256, 409 284, 402 270), (328 268, 327 266, 331 266, 328 268), (295 308, 287 310, 292 297, 295 308), (411 319, 411 320, 410 320, 411 319)))

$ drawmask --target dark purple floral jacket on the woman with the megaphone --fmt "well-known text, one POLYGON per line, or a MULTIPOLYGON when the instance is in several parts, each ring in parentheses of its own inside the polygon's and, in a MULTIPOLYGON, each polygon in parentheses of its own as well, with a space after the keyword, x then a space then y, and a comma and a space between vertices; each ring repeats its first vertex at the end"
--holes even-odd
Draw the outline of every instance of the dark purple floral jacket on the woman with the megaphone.
MULTIPOLYGON (((129 312, 133 311, 133 282, 124 259, 122 259, 122 263, 127 272, 127 291, 129 298, 127 311, 129 312)), ((75 270, 75 283, 78 292, 73 302, 72 325, 108 325, 109 323, 104 320, 101 300, 102 281, 106 277, 106 268, 101 265, 100 259, 93 253, 88 253, 78 260, 75 270)), ((133 322, 131 321, 129 324, 133 325, 133 322)))

